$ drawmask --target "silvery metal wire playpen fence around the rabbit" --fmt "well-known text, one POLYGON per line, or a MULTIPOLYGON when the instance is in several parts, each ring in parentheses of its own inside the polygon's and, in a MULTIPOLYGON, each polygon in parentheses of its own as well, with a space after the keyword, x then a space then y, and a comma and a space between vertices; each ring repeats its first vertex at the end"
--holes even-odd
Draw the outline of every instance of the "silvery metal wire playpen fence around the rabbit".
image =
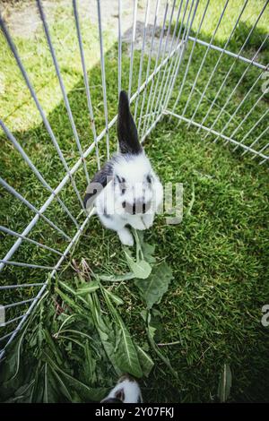
MULTIPOLYGON (((194 126, 197 129, 197 138, 203 136, 203 139, 208 138, 211 142, 227 143, 240 154, 248 154, 252 159, 256 159, 258 165, 265 165, 269 158, 269 143, 266 140, 268 107, 259 107, 265 100, 265 82, 269 69, 267 63, 261 63, 260 53, 268 47, 268 34, 258 33, 258 26, 259 22, 265 19, 265 13, 268 13, 268 1, 242 0, 240 7, 233 4, 232 0, 220 2, 216 25, 211 33, 208 33, 205 30, 208 20, 211 19, 210 8, 213 1, 146 0, 143 4, 137 0, 110 2, 113 8, 117 7, 117 10, 114 10, 117 13, 117 90, 114 91, 113 101, 117 103, 117 95, 121 89, 128 91, 142 142, 155 125, 161 124, 162 117, 166 116, 166 119, 178 120, 178 124, 187 125, 187 128, 194 126), (250 24, 246 27, 248 6, 253 5, 253 2, 256 3, 256 15, 251 16, 250 24), (245 25, 243 39, 238 36, 242 25, 245 25), (225 39, 218 38, 220 28, 226 26, 229 30, 225 32, 225 39), (252 43, 254 38, 256 42, 252 43), (213 59, 210 58, 212 56, 213 59), (225 66, 222 65, 224 61, 225 66), (134 62, 137 64, 134 65, 134 62), (124 70, 124 63, 128 65, 127 71, 124 70), (125 79, 123 72, 127 74, 125 79), (246 85, 242 84, 242 81, 246 80, 247 90, 244 88, 246 85), (213 85, 215 93, 212 97, 210 92, 213 85), (237 92, 240 92, 240 99, 235 101, 237 92), (255 124, 249 125, 248 119, 257 109, 261 110, 260 117, 255 124)), ((55 43, 50 33, 46 2, 43 4, 38 0, 36 3, 39 21, 52 59, 49 65, 54 68, 65 105, 63 114, 68 116, 72 128, 72 142, 76 148, 75 162, 66 159, 65 143, 63 139, 57 139, 48 113, 42 106, 42 98, 31 82, 32 75, 27 70, 27 58, 20 56, 20 48, 16 45, 15 37, 10 34, 9 25, 4 17, 0 19, 3 42, 9 46, 10 54, 13 55, 22 79, 30 91, 31 99, 61 166, 61 171, 55 176, 56 184, 50 185, 46 176, 39 170, 39 163, 36 164, 35 160, 30 158, 29 150, 35 148, 34 142, 27 145, 19 141, 14 130, 9 128, 2 110, 3 120, 0 120, 0 125, 4 132, 3 142, 8 143, 13 153, 18 154, 18 159, 24 160, 34 177, 30 178, 31 183, 39 184, 43 193, 36 202, 34 199, 30 201, 27 199, 27 189, 30 190, 32 184, 23 185, 21 190, 21 185, 18 188, 17 183, 13 184, 12 174, 8 179, 0 177, 3 197, 6 201, 15 200, 22 212, 20 224, 14 226, 9 206, 6 206, 4 222, 0 226, 3 245, 0 261, 0 304, 6 315, 5 323, 0 328, 1 356, 47 288, 48 276, 56 275, 56 271, 59 271, 87 226, 91 214, 86 214, 82 209, 82 196, 83 189, 91 179, 89 171, 92 174, 96 168, 100 168, 100 145, 104 144, 106 147, 105 158, 109 157, 113 149, 111 133, 117 116, 108 118, 111 104, 111 101, 108 101, 108 83, 111 81, 108 81, 106 74, 110 64, 106 58, 103 30, 104 13, 109 2, 89 1, 91 13, 96 18, 100 49, 101 84, 98 89, 102 101, 99 104, 94 103, 92 97, 92 89, 97 88, 91 87, 86 63, 85 51, 91 44, 91 39, 85 39, 81 30, 82 3, 85 2, 73 0, 72 7, 76 47, 81 58, 84 84, 81 95, 85 98, 91 122, 91 134, 86 145, 84 142, 82 144, 75 124, 62 65, 57 59, 55 43), (96 125, 97 109, 101 110, 103 117, 101 128, 96 125), (74 206, 70 205, 70 200, 66 203, 66 194, 73 197, 74 206), (26 213, 24 209, 27 210, 26 213), (55 209, 65 215, 65 228, 55 222, 55 209), (43 225, 39 228, 39 224, 43 225), (60 238, 61 247, 51 244, 50 235, 46 230, 43 231, 44 224, 51 228, 49 232, 56 233, 57 238, 60 238), (30 245, 34 253, 28 256, 22 250, 20 254, 25 244, 30 245), (46 259, 47 255, 49 259, 46 259), (20 260, 20 256, 24 258, 23 261, 20 260), (48 265, 44 262, 51 263, 48 265), (16 300, 14 296, 17 296, 16 300)), ((4 70, 2 68, 1 72, 4 73, 4 70)), ((2 155, 1 159, 4 165, 5 156, 2 155)))

